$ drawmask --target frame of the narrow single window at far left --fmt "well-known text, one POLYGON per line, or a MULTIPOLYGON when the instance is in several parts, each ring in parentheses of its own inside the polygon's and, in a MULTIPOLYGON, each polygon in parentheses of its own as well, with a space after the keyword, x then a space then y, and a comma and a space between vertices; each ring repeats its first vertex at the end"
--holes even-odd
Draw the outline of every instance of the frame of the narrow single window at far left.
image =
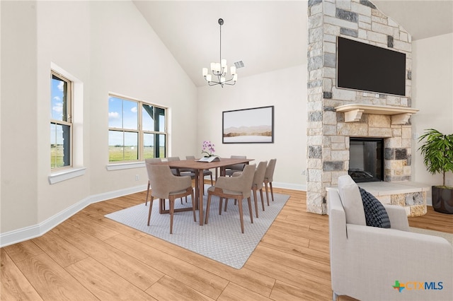
MULTIPOLYGON (((62 73, 59 73, 58 71, 55 71, 54 69, 50 69, 50 81, 51 81, 51 86, 52 86, 52 79, 53 76, 56 76, 60 81, 64 81, 67 83, 67 92, 66 92, 66 114, 67 114, 67 120, 58 120, 58 119, 53 119, 52 114, 50 115, 50 126, 52 124, 55 124, 55 126, 69 126, 69 164, 68 165, 63 165, 63 166, 52 166, 52 156, 51 156, 51 162, 50 162, 50 170, 51 172, 59 172, 62 170, 67 170, 69 168, 73 167, 73 156, 74 156, 74 117, 73 117, 73 112, 74 112, 74 81, 71 81, 67 76, 62 75, 62 73)), ((50 109, 52 110, 52 91, 50 93, 50 109)), ((52 111, 51 111, 52 112, 52 111)), ((57 141, 55 141, 57 142, 57 141)), ((52 154, 52 143, 50 144, 50 154, 52 154)))

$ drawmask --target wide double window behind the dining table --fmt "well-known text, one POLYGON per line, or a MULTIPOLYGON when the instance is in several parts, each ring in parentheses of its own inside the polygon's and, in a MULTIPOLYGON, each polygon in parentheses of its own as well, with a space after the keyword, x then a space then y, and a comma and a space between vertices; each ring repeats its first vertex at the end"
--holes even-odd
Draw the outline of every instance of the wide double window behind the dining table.
POLYGON ((166 109, 109 95, 108 161, 166 157, 166 109))

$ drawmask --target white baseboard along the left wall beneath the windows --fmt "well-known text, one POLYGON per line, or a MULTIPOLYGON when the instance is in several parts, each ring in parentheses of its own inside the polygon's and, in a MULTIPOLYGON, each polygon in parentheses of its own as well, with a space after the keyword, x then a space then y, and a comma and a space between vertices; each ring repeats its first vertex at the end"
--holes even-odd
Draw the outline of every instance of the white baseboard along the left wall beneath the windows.
POLYGON ((47 218, 47 220, 42 221, 38 225, 33 225, 18 230, 0 233, 0 247, 6 247, 10 244, 16 244, 18 242, 23 242, 25 240, 31 240, 35 237, 40 237, 41 235, 44 235, 46 232, 57 227, 57 225, 59 225, 60 223, 63 223, 64 220, 67 220, 71 216, 74 216, 74 214, 81 211, 91 203, 97 203, 99 201, 105 201, 120 196, 126 196, 127 194, 134 194, 140 191, 144 191, 145 189, 147 189, 147 185, 139 185, 136 187, 119 189, 115 191, 105 192, 102 194, 94 194, 93 196, 88 196, 87 198, 64 209, 64 211, 55 214, 55 216, 47 218))

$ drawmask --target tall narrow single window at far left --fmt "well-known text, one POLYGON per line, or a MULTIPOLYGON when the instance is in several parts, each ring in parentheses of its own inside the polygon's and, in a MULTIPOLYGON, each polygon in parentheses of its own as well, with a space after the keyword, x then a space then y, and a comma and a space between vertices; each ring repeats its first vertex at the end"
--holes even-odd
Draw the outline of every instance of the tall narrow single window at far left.
POLYGON ((50 168, 72 166, 72 82, 51 71, 50 168))

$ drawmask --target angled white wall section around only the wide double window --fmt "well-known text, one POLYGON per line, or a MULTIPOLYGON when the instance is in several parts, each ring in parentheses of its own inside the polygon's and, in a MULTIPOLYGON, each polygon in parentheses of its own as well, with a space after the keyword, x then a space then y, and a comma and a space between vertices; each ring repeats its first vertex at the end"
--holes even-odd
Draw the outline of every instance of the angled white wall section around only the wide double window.
POLYGON ((110 171, 108 92, 171 108, 171 153, 195 151, 197 89, 130 1, 91 1, 91 194, 147 183, 144 168, 110 171), (135 181, 135 175, 140 181, 135 181))

